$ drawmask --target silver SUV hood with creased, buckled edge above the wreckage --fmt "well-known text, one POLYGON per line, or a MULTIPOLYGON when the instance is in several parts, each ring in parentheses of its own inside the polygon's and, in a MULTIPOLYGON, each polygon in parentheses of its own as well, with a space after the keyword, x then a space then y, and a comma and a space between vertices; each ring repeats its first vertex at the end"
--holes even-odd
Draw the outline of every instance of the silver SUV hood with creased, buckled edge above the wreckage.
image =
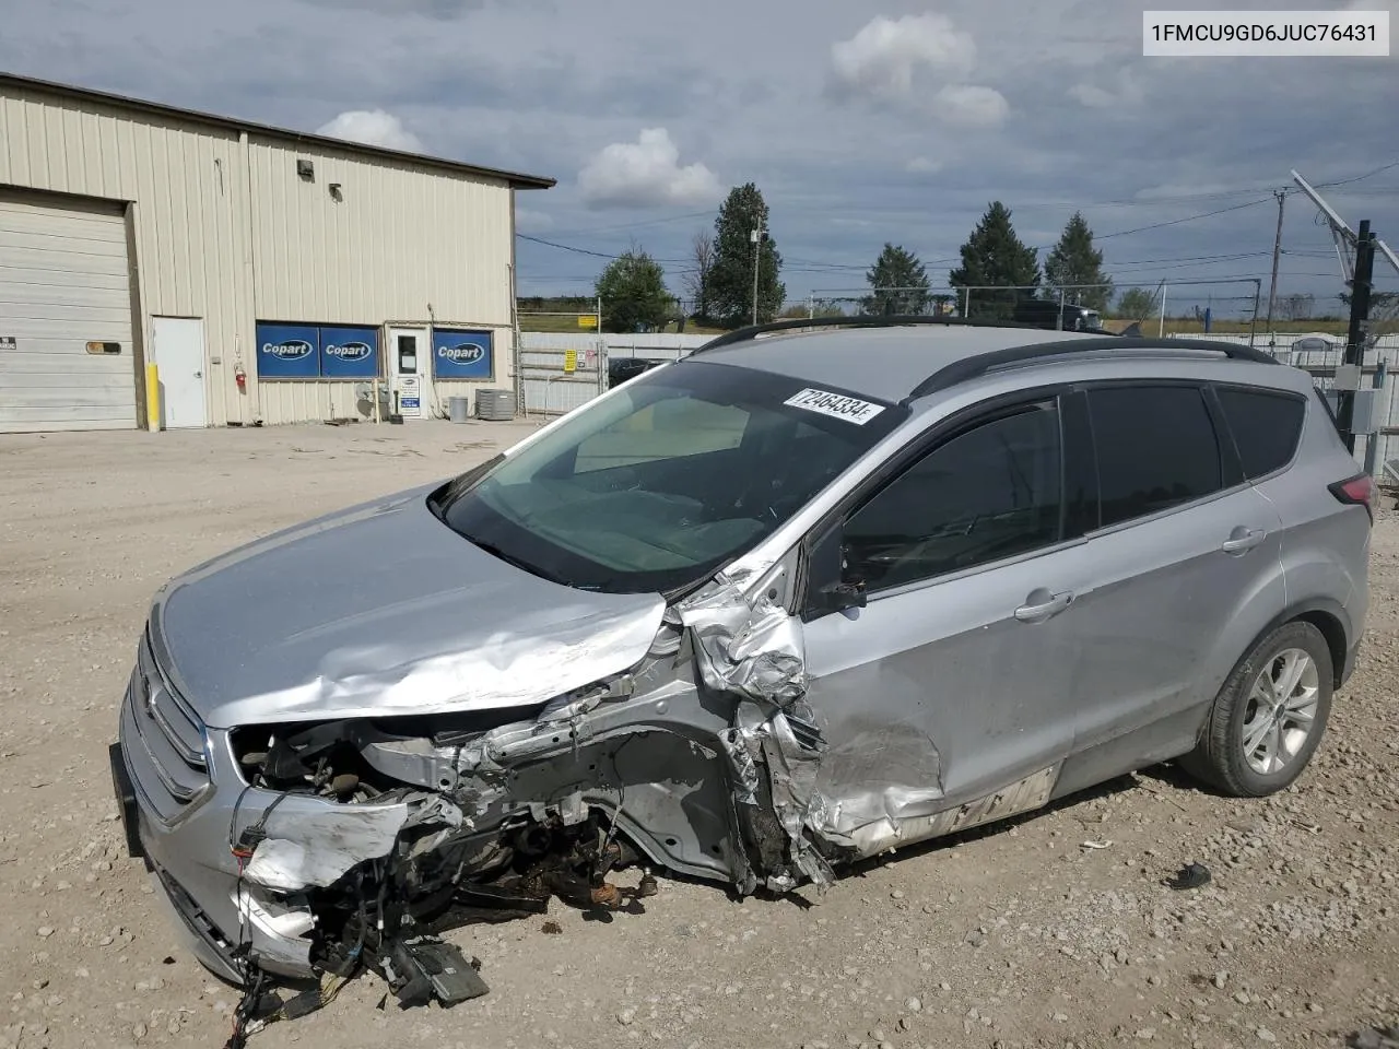
POLYGON ((299 524, 168 583, 161 669, 213 727, 543 704, 625 671, 660 594, 604 594, 487 554, 435 485, 299 524))

